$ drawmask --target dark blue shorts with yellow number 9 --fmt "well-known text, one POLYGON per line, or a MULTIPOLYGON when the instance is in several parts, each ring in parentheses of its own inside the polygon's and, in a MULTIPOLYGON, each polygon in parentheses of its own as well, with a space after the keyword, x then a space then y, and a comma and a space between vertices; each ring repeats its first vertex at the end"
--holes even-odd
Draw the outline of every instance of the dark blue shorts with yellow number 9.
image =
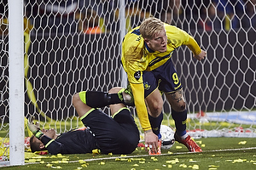
POLYGON ((143 71, 143 84, 145 98, 156 88, 165 93, 172 93, 183 88, 172 59, 168 59, 164 65, 154 71, 143 71))

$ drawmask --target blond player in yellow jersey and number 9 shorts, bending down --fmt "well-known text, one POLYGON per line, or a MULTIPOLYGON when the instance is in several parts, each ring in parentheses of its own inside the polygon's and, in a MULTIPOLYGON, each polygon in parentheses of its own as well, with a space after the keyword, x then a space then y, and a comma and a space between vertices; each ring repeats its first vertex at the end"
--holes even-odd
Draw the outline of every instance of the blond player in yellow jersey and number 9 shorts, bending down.
POLYGON ((172 107, 175 139, 191 152, 201 151, 186 132, 187 110, 183 87, 171 60, 172 52, 181 45, 186 45, 195 59, 206 57, 207 53, 187 32, 155 18, 148 18, 141 26, 129 31, 122 43, 122 65, 143 127, 145 144, 151 148, 149 154, 160 154, 160 124, 163 119, 160 92, 166 94, 172 107))

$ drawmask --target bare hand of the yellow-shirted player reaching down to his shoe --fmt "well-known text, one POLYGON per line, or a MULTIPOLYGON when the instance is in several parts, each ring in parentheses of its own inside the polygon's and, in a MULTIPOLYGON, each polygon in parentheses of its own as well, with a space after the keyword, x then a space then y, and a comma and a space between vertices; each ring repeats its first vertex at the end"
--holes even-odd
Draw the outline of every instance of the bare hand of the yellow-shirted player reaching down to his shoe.
POLYGON ((152 153, 157 153, 158 148, 158 137, 155 135, 152 130, 144 132, 145 139, 145 150, 151 150, 152 153))

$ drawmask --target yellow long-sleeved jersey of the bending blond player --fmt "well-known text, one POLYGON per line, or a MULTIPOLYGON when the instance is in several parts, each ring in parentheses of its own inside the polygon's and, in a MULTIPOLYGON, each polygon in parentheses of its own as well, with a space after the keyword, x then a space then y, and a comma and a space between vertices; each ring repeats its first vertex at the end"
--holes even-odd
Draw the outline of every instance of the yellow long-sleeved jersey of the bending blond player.
POLYGON ((137 115, 144 131, 149 130, 151 126, 148 121, 146 105, 143 104, 143 71, 153 71, 160 65, 164 65, 171 58, 172 52, 181 45, 187 45, 194 54, 201 53, 201 48, 195 39, 186 31, 167 24, 165 24, 165 29, 167 50, 164 53, 148 48, 140 34, 139 26, 129 31, 122 43, 122 65, 131 84, 137 115))

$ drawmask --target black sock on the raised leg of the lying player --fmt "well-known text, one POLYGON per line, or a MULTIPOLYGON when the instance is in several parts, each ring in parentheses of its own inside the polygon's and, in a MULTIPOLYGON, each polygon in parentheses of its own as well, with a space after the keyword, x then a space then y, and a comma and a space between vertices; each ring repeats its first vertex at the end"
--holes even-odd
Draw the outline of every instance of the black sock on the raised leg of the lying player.
POLYGON ((118 94, 108 94, 106 92, 86 91, 86 105, 93 108, 122 103, 118 94))

